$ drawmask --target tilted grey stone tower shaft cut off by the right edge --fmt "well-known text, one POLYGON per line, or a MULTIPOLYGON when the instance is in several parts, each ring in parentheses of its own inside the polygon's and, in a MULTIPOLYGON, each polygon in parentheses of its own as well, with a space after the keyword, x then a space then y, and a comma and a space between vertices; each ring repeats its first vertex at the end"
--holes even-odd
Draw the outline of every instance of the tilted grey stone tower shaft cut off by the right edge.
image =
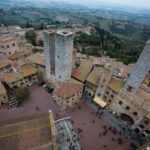
POLYGON ((150 71, 150 40, 146 43, 137 63, 124 86, 124 89, 136 93, 144 78, 150 71))

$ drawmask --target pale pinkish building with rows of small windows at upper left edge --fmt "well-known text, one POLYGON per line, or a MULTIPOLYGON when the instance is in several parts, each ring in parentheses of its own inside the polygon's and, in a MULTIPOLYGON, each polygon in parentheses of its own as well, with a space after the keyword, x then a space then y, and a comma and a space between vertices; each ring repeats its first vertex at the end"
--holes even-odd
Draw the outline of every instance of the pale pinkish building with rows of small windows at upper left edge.
POLYGON ((0 56, 9 57, 19 52, 17 40, 15 37, 0 37, 0 56))

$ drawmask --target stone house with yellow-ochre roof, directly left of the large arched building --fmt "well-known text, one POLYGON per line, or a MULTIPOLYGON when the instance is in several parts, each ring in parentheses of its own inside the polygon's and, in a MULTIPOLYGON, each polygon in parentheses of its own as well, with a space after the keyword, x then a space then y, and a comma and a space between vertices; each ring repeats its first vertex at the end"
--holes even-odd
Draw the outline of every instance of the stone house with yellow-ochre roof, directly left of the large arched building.
POLYGON ((122 80, 112 78, 106 87, 103 95, 103 100, 108 104, 111 109, 111 105, 115 102, 116 96, 118 95, 120 89, 124 86, 122 80))

